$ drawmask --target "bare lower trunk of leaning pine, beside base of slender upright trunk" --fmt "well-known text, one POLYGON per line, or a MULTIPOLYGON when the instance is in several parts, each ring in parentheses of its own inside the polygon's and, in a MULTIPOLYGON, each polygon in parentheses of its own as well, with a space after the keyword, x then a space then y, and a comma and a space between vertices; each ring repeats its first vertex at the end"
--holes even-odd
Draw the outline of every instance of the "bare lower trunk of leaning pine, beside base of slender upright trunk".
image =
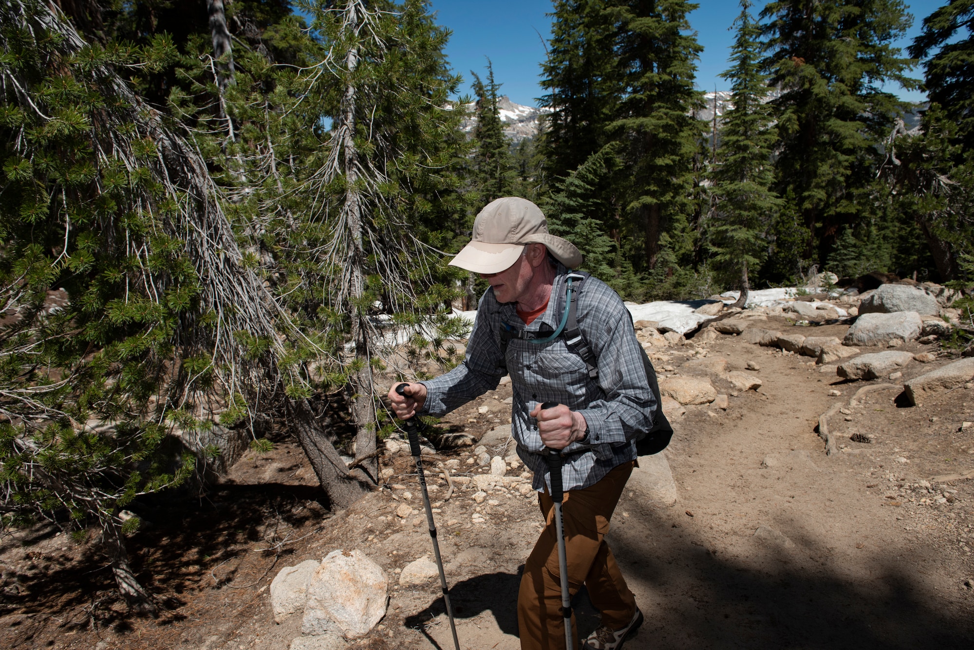
POLYGON ((311 462, 330 505, 347 508, 371 489, 370 478, 359 470, 349 471, 335 451, 333 437, 328 435, 308 400, 285 400, 287 418, 298 435, 301 449, 311 462))

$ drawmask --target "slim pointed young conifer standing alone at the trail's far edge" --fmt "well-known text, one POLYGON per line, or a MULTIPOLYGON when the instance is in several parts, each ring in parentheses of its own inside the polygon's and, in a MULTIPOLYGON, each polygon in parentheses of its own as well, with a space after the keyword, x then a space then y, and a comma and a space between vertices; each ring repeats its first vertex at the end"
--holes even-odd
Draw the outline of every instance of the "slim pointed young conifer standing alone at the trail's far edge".
POLYGON ((767 77, 762 74, 761 27, 751 17, 751 3, 741 0, 734 21, 731 69, 721 76, 731 82, 731 110, 724 116, 717 161, 711 172, 715 205, 709 225, 713 260, 739 280, 738 307, 747 303, 749 273, 756 273, 767 253, 768 225, 780 207, 768 188, 774 180, 767 77))

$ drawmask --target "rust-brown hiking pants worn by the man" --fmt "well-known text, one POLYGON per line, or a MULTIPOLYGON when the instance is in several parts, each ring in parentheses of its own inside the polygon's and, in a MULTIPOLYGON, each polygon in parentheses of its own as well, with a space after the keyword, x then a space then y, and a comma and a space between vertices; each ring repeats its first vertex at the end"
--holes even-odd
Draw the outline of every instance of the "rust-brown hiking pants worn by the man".
MULTIPOLYGON (((566 491, 562 505, 569 590, 575 596, 584 584, 592 604, 602 612, 602 624, 613 630, 625 627, 632 620, 636 598, 626 586, 604 538, 618 497, 635 464, 622 463, 594 486, 566 491)), ((522 650, 563 650, 565 625, 554 502, 546 491, 539 494, 538 502, 545 525, 535 550, 524 564, 517 596, 517 627, 522 650)), ((574 614, 572 636, 578 642, 574 614)))

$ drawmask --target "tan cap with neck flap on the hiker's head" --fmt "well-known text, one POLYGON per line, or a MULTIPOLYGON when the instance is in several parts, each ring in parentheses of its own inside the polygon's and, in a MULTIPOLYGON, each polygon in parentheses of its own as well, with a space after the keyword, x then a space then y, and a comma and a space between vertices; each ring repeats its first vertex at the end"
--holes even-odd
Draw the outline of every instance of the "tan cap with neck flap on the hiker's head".
POLYGON ((473 220, 473 237, 450 266, 475 273, 499 273, 517 262, 524 246, 543 243, 569 269, 581 264, 581 253, 568 239, 548 235, 547 219, 528 199, 504 197, 487 203, 473 220))

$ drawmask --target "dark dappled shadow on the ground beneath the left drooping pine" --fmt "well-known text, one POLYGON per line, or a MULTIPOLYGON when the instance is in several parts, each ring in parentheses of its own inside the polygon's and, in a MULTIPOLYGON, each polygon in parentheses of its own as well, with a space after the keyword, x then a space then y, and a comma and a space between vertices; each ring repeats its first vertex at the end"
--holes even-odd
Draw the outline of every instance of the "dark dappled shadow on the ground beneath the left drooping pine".
MULTIPOLYGON (((223 484, 203 498, 164 494, 132 503, 130 509, 143 524, 128 543, 131 566, 156 598, 158 625, 184 620, 181 610, 194 593, 213 587, 235 592, 270 575, 286 563, 289 551, 254 553, 254 543, 270 548, 312 519, 325 521, 326 506, 320 488, 285 484, 223 484)), ((39 639, 51 633, 131 630, 135 614, 119 598, 98 545, 34 551, 31 546, 50 538, 56 528, 39 530, 4 540, 5 550, 23 545, 34 568, 18 574, 16 592, 0 594, 0 616, 17 617, 0 632, 0 646, 38 647, 39 639)), ((90 537, 94 540, 94 533, 90 537)))

